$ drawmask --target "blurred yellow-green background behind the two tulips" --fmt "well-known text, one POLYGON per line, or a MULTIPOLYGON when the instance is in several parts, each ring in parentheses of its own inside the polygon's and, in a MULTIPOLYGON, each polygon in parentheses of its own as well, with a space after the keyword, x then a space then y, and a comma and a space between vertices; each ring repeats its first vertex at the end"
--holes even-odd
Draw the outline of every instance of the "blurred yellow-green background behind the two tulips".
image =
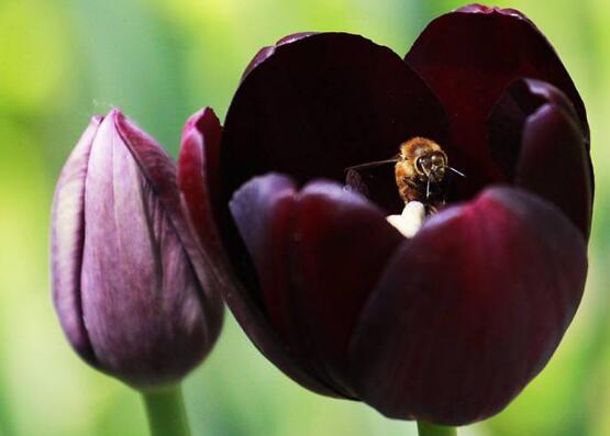
MULTIPOLYGON (((48 214, 60 166, 95 113, 121 107, 174 155, 186 118, 223 118, 256 51, 297 31, 366 35, 404 54, 457 1, 0 0, 0 435, 146 435, 138 395, 70 350, 49 298, 48 214)), ((592 128, 597 201, 583 305, 543 373, 461 435, 610 435, 610 2, 514 0, 550 37, 592 128)), ((501 54, 499 54, 501 55, 501 54)), ((561 175, 557 175, 561 177, 561 175)), ((231 316, 185 383, 196 435, 414 435, 317 396, 267 362, 231 316)))

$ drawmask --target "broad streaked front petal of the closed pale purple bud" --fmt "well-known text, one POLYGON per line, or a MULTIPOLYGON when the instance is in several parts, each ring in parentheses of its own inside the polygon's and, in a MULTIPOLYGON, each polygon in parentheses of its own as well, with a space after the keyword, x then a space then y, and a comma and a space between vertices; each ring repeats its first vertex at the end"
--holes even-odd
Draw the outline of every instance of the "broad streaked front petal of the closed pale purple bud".
POLYGON ((113 110, 91 147, 81 300, 100 367, 146 388, 181 379, 203 357, 210 337, 200 283, 167 209, 170 203, 160 200, 171 188, 151 182, 168 177, 165 183, 171 183, 171 161, 135 130, 113 110))

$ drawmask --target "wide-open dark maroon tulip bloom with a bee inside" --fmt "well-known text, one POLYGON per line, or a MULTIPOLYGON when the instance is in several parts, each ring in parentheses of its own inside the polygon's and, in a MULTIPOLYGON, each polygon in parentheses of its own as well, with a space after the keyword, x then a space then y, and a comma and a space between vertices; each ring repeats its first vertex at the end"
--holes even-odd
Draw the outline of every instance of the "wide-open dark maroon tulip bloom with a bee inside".
POLYGON ((469 5, 404 60, 344 33, 300 34, 251 63, 224 131, 185 130, 184 205, 256 346, 315 392, 462 425, 546 365, 583 295, 592 204, 585 108, 521 13, 469 5), (222 136, 222 139, 221 139, 222 136), (345 168, 425 136, 466 174, 404 238, 391 166, 369 198, 345 168))

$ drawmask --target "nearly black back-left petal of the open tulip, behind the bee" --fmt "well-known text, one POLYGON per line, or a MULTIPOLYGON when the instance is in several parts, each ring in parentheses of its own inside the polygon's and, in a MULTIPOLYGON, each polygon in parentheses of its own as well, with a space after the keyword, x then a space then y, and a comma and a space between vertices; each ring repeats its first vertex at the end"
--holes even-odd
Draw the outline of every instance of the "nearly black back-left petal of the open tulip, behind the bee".
MULTIPOLYGON (((262 58, 226 115, 221 204, 269 171, 299 183, 343 182, 347 167, 391 158, 413 136, 444 143, 441 103, 387 47, 357 35, 319 33, 284 40, 262 58)), ((385 187, 375 201, 399 213, 403 204, 391 166, 384 176, 371 180, 385 187)))

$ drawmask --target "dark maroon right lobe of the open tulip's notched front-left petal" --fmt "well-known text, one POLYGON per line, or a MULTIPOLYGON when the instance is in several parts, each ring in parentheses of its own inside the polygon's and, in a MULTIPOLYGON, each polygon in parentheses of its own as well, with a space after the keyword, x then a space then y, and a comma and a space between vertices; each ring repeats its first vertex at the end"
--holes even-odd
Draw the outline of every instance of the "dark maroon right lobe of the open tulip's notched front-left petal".
POLYGON ((298 194, 284 266, 291 287, 285 292, 297 308, 292 322, 304 327, 325 370, 347 389, 346 356, 356 321, 403 241, 379 209, 336 183, 313 181, 298 194))

